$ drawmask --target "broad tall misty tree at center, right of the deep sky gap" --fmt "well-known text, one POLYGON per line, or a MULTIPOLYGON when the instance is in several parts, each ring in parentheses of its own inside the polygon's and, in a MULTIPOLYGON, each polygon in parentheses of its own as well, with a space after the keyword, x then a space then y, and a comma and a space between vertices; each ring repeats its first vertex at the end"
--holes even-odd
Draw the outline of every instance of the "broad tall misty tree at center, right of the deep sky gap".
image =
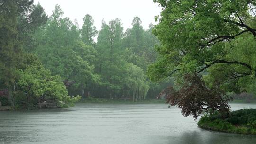
POLYGON ((96 69, 102 78, 101 88, 109 93, 107 95, 109 98, 117 95, 120 91, 121 73, 123 72, 123 65, 126 63, 120 57, 122 30, 123 27, 119 19, 111 20, 109 25, 102 21, 96 45, 99 52, 96 69))

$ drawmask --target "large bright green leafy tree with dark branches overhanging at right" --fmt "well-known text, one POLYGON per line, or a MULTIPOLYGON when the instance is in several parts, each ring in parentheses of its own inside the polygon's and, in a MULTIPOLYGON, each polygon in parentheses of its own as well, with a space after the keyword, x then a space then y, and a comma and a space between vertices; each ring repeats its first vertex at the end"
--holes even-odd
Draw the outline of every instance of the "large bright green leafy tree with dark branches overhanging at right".
POLYGON ((204 73, 208 87, 256 92, 255 0, 154 0, 163 8, 153 30, 160 54, 152 80, 204 73))

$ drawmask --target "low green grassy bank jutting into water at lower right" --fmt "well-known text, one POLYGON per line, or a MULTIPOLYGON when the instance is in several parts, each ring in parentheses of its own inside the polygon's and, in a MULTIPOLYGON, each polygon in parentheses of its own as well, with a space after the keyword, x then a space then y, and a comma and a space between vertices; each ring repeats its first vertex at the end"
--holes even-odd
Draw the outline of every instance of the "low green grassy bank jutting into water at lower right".
POLYGON ((198 126, 219 132, 256 135, 256 109, 233 111, 230 117, 224 119, 219 114, 205 115, 198 126))

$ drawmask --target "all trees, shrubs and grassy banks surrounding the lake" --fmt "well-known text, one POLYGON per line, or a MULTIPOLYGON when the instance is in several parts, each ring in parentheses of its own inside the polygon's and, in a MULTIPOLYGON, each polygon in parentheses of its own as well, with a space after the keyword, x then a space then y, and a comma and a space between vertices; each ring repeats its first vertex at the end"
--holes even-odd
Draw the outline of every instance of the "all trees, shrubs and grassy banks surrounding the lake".
POLYGON ((228 104, 256 95, 255 0, 154 2, 156 26, 117 18, 98 31, 89 14, 79 26, 59 5, 47 16, 33 0, 0 0, 0 105, 143 102, 168 86, 159 97, 185 117, 206 113, 200 127, 255 134, 255 111, 228 104))

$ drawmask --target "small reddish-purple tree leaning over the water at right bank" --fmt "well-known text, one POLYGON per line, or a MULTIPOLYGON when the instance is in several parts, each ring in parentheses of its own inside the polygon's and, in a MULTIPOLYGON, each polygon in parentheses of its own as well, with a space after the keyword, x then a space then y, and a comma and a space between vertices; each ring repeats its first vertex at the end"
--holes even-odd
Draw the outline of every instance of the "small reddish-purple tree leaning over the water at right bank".
POLYGON ((223 116, 229 114, 228 102, 232 98, 224 96, 219 86, 213 89, 207 88, 197 74, 187 74, 184 80, 186 84, 180 90, 176 91, 173 87, 168 87, 160 95, 166 94, 167 103, 181 108, 185 117, 192 115, 197 119, 201 113, 208 110, 219 111, 223 116))

